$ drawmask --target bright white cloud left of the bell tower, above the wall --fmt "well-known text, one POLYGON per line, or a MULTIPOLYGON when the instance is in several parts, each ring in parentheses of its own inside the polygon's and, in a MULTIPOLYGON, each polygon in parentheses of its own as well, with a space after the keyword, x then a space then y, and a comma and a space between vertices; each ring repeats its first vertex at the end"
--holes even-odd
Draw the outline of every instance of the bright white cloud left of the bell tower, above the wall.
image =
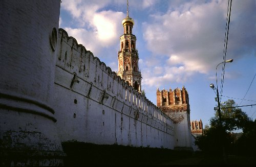
POLYGON ((122 12, 103 10, 110 3, 111 1, 84 2, 81 0, 61 3, 61 7, 69 11, 78 22, 72 27, 66 27, 65 30, 94 55, 115 46, 122 34, 121 21, 125 15, 122 12))

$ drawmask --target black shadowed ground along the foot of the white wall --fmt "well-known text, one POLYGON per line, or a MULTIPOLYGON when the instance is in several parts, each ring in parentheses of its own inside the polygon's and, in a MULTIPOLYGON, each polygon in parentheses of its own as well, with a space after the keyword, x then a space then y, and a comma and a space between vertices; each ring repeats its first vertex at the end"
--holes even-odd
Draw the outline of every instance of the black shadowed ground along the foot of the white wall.
POLYGON ((67 156, 65 166, 91 165, 256 165, 253 156, 226 156, 203 154, 202 152, 176 151, 164 148, 135 148, 117 145, 94 145, 83 142, 64 142, 67 156))

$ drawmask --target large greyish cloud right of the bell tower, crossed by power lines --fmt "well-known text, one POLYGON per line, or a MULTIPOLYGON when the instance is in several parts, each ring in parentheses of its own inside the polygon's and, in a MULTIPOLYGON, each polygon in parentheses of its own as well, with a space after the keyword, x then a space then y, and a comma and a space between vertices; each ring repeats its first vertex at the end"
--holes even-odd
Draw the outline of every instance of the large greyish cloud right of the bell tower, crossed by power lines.
MULTIPOLYGON (((243 45, 249 46, 248 49, 255 55, 252 46, 256 42, 253 38, 256 32, 255 23, 254 26, 253 23, 241 23, 251 18, 251 14, 255 12, 253 7, 250 7, 253 3, 245 4, 234 1, 232 5, 234 9, 231 13, 228 44, 228 48, 232 50, 227 55, 232 55, 232 58, 239 57, 239 52, 245 54, 243 45), (246 7, 240 8, 239 5, 246 7), (239 31, 243 30, 242 27, 253 32, 252 36, 243 36, 245 33, 239 31), (235 52, 236 50, 238 52, 235 52)), ((210 1, 183 3, 164 14, 151 15, 151 21, 143 23, 143 38, 147 43, 147 49, 153 55, 148 60, 157 57, 162 66, 170 67, 162 70, 161 75, 158 71, 157 77, 152 77, 152 72, 150 75, 145 73, 144 84, 155 86, 159 80, 162 81, 161 84, 185 82, 196 73, 208 74, 210 70, 215 69, 223 57, 226 14, 227 1, 210 1)), ((146 65, 148 69, 154 69, 152 67, 156 63, 146 65)))

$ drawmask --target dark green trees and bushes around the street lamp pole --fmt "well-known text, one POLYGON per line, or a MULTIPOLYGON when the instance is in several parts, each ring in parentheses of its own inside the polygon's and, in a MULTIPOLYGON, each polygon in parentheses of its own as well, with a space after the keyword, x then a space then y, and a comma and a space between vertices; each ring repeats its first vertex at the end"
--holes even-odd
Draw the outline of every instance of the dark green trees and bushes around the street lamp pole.
POLYGON ((248 155, 256 154, 256 120, 253 122, 241 108, 236 108, 233 100, 221 105, 222 126, 219 126, 218 111, 215 117, 210 118, 210 127, 205 127, 204 135, 197 136, 195 144, 208 155, 221 155, 234 153, 248 155), (232 107, 232 108, 226 108, 232 107), (242 129, 243 133, 230 131, 242 129), (241 136, 241 137, 240 137, 241 136))

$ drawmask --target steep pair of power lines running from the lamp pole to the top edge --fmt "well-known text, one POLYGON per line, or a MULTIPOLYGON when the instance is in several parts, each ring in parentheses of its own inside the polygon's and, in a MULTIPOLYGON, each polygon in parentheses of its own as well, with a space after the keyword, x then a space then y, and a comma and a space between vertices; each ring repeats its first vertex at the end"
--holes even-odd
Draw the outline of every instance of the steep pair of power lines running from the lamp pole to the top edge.
MULTIPOLYGON (((228 32, 229 32, 229 23, 230 23, 230 15, 231 15, 231 4, 232 0, 228 1, 228 10, 227 10, 227 19, 226 19, 226 30, 225 30, 225 40, 224 40, 224 50, 223 50, 223 65, 222 65, 222 73, 221 73, 221 91, 220 94, 222 95, 223 92, 223 83, 224 83, 224 75, 225 75, 225 64, 226 64, 226 54, 227 54, 227 41, 228 41, 228 32)), ((220 99, 221 100, 221 99, 220 99)))

